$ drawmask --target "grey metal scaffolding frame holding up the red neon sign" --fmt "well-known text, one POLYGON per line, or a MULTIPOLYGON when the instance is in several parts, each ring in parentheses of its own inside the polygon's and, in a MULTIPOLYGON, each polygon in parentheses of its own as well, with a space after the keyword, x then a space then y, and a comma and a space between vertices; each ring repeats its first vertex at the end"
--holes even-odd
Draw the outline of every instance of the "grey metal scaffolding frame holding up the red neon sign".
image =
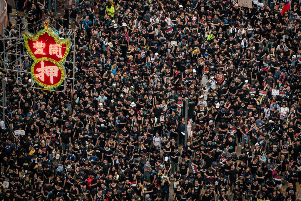
MULTIPOLYGON (((53 18, 50 17, 45 17, 43 19, 41 19, 41 23, 37 24, 37 25, 33 25, 33 29, 38 28, 38 30, 43 29, 44 27, 42 27, 43 23, 46 20, 50 20, 51 22, 54 21, 53 18)), ((2 38, 0 40, 2 40, 3 42, 3 50, 0 52, 0 58, 1 58, 1 62, 2 62, 2 66, 3 68, 0 68, 0 70, 2 71, 3 74, 8 74, 8 71, 11 71, 14 73, 15 77, 18 80, 18 84, 20 87, 22 86, 22 75, 23 74, 31 74, 30 71, 28 71, 27 69, 24 69, 22 67, 22 62, 24 60, 24 58, 26 56, 28 56, 30 58, 30 55, 25 54, 25 50, 24 53, 21 54, 21 49, 24 47, 22 43, 24 43, 24 39, 23 39, 23 35, 26 31, 28 31, 29 29, 27 29, 28 27, 28 23, 24 23, 23 27, 20 27, 19 29, 15 29, 16 30, 16 35, 17 37, 13 37, 10 36, 10 34, 8 34, 8 36, 6 36, 5 33, 9 33, 10 31, 6 29, 6 27, 4 27, 4 31, 2 33, 2 38), (18 30, 22 30, 21 33, 18 32, 18 30), (14 50, 14 52, 12 52, 11 50, 14 50), (18 52, 18 53, 17 53, 18 52), (11 69, 10 67, 13 66, 14 69, 11 69)), ((31 24, 32 25, 32 24, 31 24)), ((53 24, 49 25, 51 28, 55 27, 53 26, 53 24)), ((72 29, 64 29, 65 32, 64 33, 60 33, 61 37, 63 38, 67 38, 67 36, 70 36, 70 53, 72 58, 69 59, 69 56, 66 58, 65 61, 63 61, 62 63, 65 64, 71 64, 70 65, 70 70, 72 71, 70 77, 67 77, 67 72, 65 75, 65 79, 64 82, 58 86, 55 89, 45 89, 45 88, 39 88, 39 86, 34 82, 34 80, 32 80, 32 85, 31 88, 32 89, 41 89, 41 90, 50 90, 50 91, 55 91, 55 92, 64 92, 64 90, 66 89, 66 79, 69 79, 72 83, 72 87, 74 89, 75 86, 75 68, 74 68, 74 63, 75 63, 75 52, 74 52, 74 45, 75 45, 75 37, 74 37, 74 33, 75 31, 72 29), (67 61, 68 60, 68 61, 67 61)), ((58 33, 58 31, 56 31, 58 33)), ((23 51, 23 49, 22 49, 23 51)))

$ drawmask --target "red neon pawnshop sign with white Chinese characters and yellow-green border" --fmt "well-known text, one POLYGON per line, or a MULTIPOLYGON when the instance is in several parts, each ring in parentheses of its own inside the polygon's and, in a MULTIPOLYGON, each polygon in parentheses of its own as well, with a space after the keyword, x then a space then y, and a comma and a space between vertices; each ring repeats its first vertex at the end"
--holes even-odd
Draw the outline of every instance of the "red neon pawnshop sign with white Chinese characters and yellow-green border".
POLYGON ((36 35, 24 34, 25 47, 34 60, 31 75, 37 84, 45 88, 60 86, 65 79, 65 67, 62 62, 70 50, 70 38, 60 39, 57 33, 44 23, 45 29, 36 35))

